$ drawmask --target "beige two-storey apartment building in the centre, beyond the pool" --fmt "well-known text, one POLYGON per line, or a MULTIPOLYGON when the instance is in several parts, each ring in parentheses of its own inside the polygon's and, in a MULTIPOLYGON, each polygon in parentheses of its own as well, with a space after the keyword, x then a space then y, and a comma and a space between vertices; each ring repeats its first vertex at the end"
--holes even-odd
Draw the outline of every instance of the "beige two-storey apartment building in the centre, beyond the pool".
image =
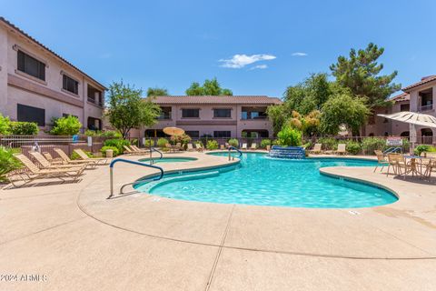
POLYGON ((162 115, 156 125, 141 130, 141 137, 164 136, 167 126, 181 127, 193 138, 272 137, 266 107, 282 104, 264 95, 158 96, 154 102, 162 115))

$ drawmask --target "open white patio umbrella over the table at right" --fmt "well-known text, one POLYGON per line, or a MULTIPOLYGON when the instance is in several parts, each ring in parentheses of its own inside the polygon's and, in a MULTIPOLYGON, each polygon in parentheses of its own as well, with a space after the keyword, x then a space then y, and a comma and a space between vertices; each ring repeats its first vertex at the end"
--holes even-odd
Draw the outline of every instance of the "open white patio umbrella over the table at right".
POLYGON ((391 115, 379 116, 409 124, 409 131, 411 133, 411 153, 413 153, 413 149, 416 143, 415 125, 436 128, 436 117, 432 115, 423 115, 417 112, 402 111, 391 115))

